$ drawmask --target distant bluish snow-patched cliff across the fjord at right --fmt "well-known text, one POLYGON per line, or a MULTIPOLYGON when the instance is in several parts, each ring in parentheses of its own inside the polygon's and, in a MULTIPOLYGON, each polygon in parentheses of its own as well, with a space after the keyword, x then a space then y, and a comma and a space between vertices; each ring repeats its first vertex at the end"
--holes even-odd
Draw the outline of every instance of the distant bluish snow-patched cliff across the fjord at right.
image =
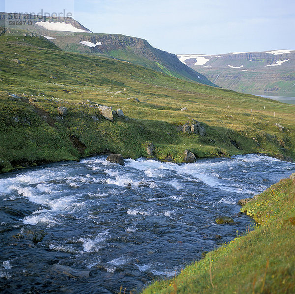
POLYGON ((295 50, 177 55, 213 83, 231 90, 295 93, 295 50))

